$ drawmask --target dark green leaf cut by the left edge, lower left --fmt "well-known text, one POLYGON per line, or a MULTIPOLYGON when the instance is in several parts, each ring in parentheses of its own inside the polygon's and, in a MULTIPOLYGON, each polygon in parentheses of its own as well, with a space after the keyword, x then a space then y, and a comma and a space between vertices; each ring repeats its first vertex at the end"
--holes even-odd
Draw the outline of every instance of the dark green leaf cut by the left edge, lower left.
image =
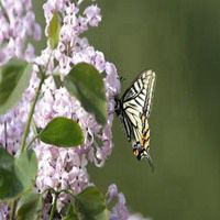
POLYGON ((16 197, 23 190, 14 172, 14 158, 0 146, 0 199, 16 197))

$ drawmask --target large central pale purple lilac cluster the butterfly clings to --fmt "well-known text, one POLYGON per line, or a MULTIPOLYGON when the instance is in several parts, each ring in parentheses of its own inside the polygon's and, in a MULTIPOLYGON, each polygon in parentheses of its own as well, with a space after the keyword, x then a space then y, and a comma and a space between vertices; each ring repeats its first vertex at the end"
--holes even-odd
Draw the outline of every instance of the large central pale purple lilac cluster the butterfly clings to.
POLYGON ((54 117, 63 116, 77 121, 84 131, 85 143, 77 148, 61 150, 37 143, 35 152, 40 161, 36 187, 40 190, 54 187, 56 189, 70 188, 80 193, 88 186, 89 179, 86 169, 87 161, 102 166, 112 151, 111 125, 114 110, 114 96, 120 90, 118 73, 113 64, 106 62, 103 53, 96 51, 86 37, 80 34, 89 26, 97 26, 101 20, 100 9, 91 4, 79 14, 80 4, 70 1, 47 1, 44 8, 46 18, 45 34, 53 12, 62 14, 61 40, 56 50, 51 52, 47 47, 35 59, 38 65, 46 65, 48 56, 52 58, 48 65, 48 77, 42 88, 42 98, 37 102, 34 114, 35 125, 44 128, 54 117), (72 65, 86 62, 94 65, 100 74, 106 72, 105 86, 108 103, 108 121, 101 127, 95 117, 80 106, 80 102, 72 97, 65 88, 56 88, 53 74, 59 73, 61 77, 68 74, 72 65), (55 65, 58 63, 58 65, 55 65), (101 141, 100 146, 96 140, 101 141), (42 152, 44 152, 42 154, 42 152))

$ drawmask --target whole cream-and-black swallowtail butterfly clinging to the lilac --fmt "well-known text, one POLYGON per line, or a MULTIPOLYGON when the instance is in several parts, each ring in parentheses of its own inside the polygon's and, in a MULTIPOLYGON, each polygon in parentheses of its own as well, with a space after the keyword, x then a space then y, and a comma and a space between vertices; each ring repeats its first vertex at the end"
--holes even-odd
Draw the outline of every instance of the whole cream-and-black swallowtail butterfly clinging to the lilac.
POLYGON ((122 98, 114 98, 114 112, 122 122, 127 138, 132 142, 133 154, 139 161, 147 158, 152 169, 150 155, 148 117, 152 108, 156 75, 152 70, 142 72, 122 98))

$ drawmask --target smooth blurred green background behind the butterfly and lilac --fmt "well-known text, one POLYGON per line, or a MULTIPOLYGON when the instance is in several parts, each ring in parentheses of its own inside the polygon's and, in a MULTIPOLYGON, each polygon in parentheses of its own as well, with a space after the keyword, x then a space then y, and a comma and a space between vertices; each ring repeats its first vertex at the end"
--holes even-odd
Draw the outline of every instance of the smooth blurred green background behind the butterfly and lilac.
MULTIPOLYGON (((41 3, 34 1, 37 20, 41 3)), ((116 183, 132 211, 154 220, 220 219, 220 1, 100 0, 102 23, 87 34, 127 78, 156 72, 151 154, 135 160, 116 118, 114 148, 89 167, 102 190, 116 183)), ((42 45, 38 45, 40 47, 42 45)))

